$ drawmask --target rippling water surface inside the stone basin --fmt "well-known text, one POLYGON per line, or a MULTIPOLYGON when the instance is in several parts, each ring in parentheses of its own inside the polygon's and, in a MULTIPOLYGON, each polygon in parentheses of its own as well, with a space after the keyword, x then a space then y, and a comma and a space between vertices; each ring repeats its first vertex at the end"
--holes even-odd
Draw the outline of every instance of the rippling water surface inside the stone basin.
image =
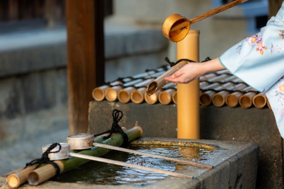
MULTIPOLYGON (((188 146, 135 145, 130 146, 130 148, 141 152, 190 161, 206 161, 206 156, 212 152, 212 150, 209 149, 199 149, 198 147, 188 146)), ((166 171, 180 170, 185 166, 184 164, 179 164, 177 162, 129 154, 115 150, 108 152, 108 154, 103 157, 166 171)), ((167 177, 167 175, 149 172, 146 170, 90 161, 76 168, 75 170, 59 175, 59 177, 56 177, 53 180, 58 182, 83 184, 146 185, 165 177, 167 177)))

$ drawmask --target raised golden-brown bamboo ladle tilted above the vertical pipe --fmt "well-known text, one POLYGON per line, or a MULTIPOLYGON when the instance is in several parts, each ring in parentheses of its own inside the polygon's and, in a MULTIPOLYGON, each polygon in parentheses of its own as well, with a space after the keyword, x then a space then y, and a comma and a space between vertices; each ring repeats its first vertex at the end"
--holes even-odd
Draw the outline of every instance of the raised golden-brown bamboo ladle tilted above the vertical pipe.
POLYGON ((241 4, 249 0, 235 0, 223 6, 220 6, 217 9, 211 10, 204 14, 199 15, 193 19, 188 20, 180 14, 172 14, 170 15, 164 22, 162 27, 162 32, 166 38, 171 40, 172 42, 179 42, 185 38, 190 28, 190 25, 203 20, 204 18, 210 17, 214 14, 227 10, 233 6, 241 4))

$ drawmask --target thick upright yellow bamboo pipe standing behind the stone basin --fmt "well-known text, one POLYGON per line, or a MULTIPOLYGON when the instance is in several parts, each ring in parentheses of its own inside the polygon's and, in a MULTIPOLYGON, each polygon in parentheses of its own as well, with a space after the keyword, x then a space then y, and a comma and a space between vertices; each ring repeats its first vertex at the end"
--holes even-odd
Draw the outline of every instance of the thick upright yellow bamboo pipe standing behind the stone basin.
MULTIPOLYGON (((186 37, 177 43, 177 59, 188 58, 199 62, 199 30, 189 30, 186 37)), ((199 78, 177 88, 178 138, 200 138, 199 78)))

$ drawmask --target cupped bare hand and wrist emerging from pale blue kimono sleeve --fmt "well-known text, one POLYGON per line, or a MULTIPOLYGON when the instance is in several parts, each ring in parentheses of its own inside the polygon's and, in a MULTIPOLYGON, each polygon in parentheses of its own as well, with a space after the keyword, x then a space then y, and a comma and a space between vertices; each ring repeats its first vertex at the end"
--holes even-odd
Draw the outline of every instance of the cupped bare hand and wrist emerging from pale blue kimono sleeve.
POLYGON ((203 63, 191 62, 185 64, 171 76, 166 77, 165 80, 175 84, 188 84, 203 74, 224 69, 225 68, 220 63, 219 58, 203 63))

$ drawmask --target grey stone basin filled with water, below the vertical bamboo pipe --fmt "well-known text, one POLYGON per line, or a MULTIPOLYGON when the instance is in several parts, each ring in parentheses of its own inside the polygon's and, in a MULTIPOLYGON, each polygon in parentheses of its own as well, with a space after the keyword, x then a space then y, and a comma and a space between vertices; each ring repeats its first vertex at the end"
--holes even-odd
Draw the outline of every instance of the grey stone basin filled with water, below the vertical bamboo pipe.
MULTIPOLYGON (((20 188, 255 188, 259 146, 253 143, 141 138, 131 149, 213 165, 213 169, 110 151, 105 158, 192 175, 184 179, 99 162, 88 162, 38 186, 20 188)), ((0 188, 8 188, 7 175, 0 188)))

